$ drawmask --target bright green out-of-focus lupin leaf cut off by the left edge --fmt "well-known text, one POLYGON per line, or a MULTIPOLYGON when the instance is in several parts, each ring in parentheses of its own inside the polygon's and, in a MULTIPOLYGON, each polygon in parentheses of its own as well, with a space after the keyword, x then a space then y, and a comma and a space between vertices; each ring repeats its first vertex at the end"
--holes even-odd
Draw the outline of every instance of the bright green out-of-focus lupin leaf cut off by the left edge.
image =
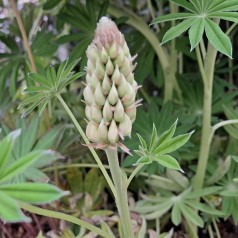
POLYGON ((30 221, 21 212, 18 201, 45 204, 67 194, 45 183, 11 183, 14 177, 26 172, 32 163, 53 153, 49 150, 35 150, 11 162, 14 143, 20 133, 20 130, 13 131, 0 141, 0 218, 5 222, 30 221))

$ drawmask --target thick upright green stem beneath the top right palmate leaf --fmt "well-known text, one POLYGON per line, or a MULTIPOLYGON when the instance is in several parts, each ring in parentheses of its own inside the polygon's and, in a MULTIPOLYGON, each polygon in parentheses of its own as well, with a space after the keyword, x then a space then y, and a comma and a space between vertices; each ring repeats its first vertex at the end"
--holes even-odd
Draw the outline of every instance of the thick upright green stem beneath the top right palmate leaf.
POLYGON ((217 50, 210 44, 208 45, 208 52, 204 61, 204 66, 199 65, 203 81, 204 81, 204 96, 203 96, 203 126, 202 138, 199 151, 198 166, 195 175, 194 189, 199 190, 203 187, 204 177, 206 173, 207 161, 210 150, 210 135, 211 116, 212 116, 212 86, 214 77, 214 68, 216 61, 217 50), (205 75, 203 75, 203 72, 205 75), (205 78, 206 77, 206 78, 205 78))

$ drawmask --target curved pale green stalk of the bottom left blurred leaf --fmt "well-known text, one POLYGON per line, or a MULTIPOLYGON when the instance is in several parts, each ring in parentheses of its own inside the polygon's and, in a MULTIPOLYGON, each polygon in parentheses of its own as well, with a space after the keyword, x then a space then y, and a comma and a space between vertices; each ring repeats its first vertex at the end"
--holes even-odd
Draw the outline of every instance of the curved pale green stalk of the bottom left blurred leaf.
POLYGON ((106 238, 112 238, 113 237, 112 235, 108 234, 107 232, 105 232, 105 231, 99 229, 98 227, 96 227, 96 226, 94 226, 94 225, 92 225, 92 224, 90 224, 90 223, 88 223, 84 220, 81 220, 79 218, 76 218, 76 217, 61 213, 61 212, 55 212, 55 211, 35 207, 35 206, 32 206, 30 204, 26 204, 26 203, 23 203, 23 202, 18 202, 18 204, 25 211, 32 212, 34 214, 38 214, 38 215, 42 215, 42 216, 46 216, 46 217, 53 217, 53 218, 56 218, 56 219, 61 219, 61 220, 64 220, 64 221, 72 222, 76 225, 82 226, 82 227, 84 227, 84 228, 86 228, 90 231, 93 231, 94 233, 96 233, 100 236, 106 237, 106 238))

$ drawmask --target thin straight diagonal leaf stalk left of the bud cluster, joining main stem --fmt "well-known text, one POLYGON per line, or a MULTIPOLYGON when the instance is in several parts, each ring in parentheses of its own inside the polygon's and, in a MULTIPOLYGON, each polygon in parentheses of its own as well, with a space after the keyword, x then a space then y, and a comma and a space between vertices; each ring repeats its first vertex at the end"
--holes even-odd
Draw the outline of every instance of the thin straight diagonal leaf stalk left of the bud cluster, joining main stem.
POLYGON ((92 153, 94 159, 96 160, 99 168, 101 169, 105 179, 107 180, 107 183, 110 187, 110 189, 112 190, 112 193, 116 194, 115 191, 115 187, 112 183, 112 180, 109 176, 109 174, 107 173, 107 170, 105 169, 104 165, 102 164, 100 158, 98 157, 96 151, 90 147, 90 141, 88 140, 87 136, 85 135, 83 129, 81 128, 81 126, 79 125, 79 123, 77 122, 76 118, 74 117, 73 113, 71 112, 71 110, 69 109, 68 105, 65 103, 64 99, 60 96, 60 94, 57 94, 56 97, 59 99, 59 101, 61 102, 62 106, 64 107, 64 109, 66 110, 66 112, 68 113, 69 117, 71 118, 71 120, 73 121, 75 127, 77 128, 79 134, 82 136, 84 142, 86 143, 86 145, 88 145, 88 148, 90 150, 90 152, 92 153))

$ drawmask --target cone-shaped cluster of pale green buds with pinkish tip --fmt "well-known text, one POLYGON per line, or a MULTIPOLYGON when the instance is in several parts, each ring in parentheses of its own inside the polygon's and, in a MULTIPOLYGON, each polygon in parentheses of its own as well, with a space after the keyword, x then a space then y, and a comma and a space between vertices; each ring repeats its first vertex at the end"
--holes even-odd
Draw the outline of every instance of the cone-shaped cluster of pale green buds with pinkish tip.
POLYGON ((131 57, 116 24, 107 17, 97 24, 86 53, 86 135, 98 147, 120 145, 120 139, 131 135, 136 107, 140 105, 133 74, 135 57, 131 57))

